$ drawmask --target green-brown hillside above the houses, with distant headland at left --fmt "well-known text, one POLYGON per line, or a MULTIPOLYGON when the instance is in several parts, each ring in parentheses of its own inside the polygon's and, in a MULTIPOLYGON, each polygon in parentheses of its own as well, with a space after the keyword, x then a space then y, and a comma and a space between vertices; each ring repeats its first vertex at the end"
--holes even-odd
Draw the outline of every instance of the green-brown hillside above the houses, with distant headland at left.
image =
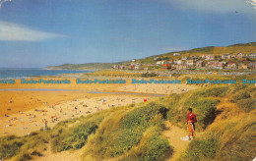
MULTIPOLYGON (((256 52, 256 42, 244 43, 244 44, 233 44, 225 47, 215 47, 208 46, 202 48, 195 48, 191 50, 183 50, 176 52, 169 52, 160 55, 150 56, 147 58, 139 59, 136 63, 143 64, 144 66, 150 64, 156 64, 156 57, 160 58, 160 60, 169 60, 169 59, 181 59, 182 56, 191 57, 194 55, 202 56, 208 54, 214 54, 215 56, 220 56, 223 54, 236 54, 236 53, 244 53, 250 54, 256 52), (174 53, 179 53, 180 56, 173 56, 174 53)), ((48 70, 103 70, 110 69, 114 64, 123 64, 129 66, 131 61, 126 62, 117 62, 117 63, 86 63, 86 64, 63 64, 60 66, 50 66, 45 69, 48 70)))

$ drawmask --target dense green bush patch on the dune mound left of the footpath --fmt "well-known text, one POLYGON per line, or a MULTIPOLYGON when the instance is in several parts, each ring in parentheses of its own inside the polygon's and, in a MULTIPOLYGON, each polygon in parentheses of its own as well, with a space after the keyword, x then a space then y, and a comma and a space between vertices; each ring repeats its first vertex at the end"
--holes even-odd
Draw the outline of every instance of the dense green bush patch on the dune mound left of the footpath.
POLYGON ((144 132, 151 126, 156 125, 155 117, 160 114, 162 117, 166 115, 165 108, 151 103, 145 107, 136 109, 128 113, 120 122, 119 136, 110 145, 108 153, 110 156, 119 156, 125 151, 132 148, 133 145, 139 143, 144 132))

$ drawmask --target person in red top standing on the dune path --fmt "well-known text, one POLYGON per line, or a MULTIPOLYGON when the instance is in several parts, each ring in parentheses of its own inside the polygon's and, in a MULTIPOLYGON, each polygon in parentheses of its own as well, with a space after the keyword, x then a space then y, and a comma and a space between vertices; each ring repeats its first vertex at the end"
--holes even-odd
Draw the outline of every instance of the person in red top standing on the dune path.
POLYGON ((193 137, 195 137, 195 123, 197 123, 196 115, 192 113, 192 108, 188 108, 186 125, 189 139, 193 139, 193 137))

